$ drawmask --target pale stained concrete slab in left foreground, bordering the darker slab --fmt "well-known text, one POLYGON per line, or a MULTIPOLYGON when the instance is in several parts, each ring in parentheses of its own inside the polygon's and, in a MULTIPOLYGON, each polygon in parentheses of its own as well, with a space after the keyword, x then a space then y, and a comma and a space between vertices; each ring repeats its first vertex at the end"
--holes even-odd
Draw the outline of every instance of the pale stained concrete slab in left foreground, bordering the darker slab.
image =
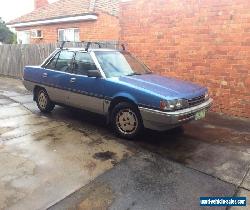
POLYGON ((132 154, 122 144, 98 138, 63 125, 1 144, 0 208, 47 208, 132 154), (107 151, 114 155, 95 157, 107 151))

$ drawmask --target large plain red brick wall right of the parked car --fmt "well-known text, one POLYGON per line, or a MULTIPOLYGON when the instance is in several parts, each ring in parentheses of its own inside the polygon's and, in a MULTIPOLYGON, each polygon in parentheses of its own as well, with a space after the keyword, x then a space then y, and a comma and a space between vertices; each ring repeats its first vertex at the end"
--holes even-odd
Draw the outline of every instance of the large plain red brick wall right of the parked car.
POLYGON ((132 0, 120 22, 152 70, 207 86, 216 112, 250 117, 249 0, 132 0))

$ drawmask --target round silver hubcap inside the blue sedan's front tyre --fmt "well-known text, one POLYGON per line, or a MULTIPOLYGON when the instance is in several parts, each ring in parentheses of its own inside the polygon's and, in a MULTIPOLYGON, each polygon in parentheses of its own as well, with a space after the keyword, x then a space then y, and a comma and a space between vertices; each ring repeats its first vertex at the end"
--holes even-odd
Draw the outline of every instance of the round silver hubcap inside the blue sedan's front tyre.
POLYGON ((116 125, 123 134, 133 134, 138 127, 138 119, 131 109, 123 109, 116 115, 116 125))

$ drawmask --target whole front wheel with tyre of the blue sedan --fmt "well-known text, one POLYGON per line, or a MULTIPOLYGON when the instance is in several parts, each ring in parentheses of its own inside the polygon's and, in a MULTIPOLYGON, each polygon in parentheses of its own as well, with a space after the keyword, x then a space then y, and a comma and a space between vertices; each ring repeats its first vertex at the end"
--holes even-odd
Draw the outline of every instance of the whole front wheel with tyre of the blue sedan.
POLYGON ((134 139, 143 128, 139 110, 127 102, 121 102, 114 107, 111 124, 115 133, 125 139, 134 139))

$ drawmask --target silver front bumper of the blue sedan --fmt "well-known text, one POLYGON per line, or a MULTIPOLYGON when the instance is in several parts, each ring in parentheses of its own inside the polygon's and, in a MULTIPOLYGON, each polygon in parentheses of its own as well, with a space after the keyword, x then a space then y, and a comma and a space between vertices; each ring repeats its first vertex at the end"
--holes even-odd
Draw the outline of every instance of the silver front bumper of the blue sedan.
POLYGON ((212 106, 213 99, 183 110, 174 112, 163 112, 155 109, 139 107, 145 128, 164 131, 178 127, 188 121, 195 119, 195 114, 204 110, 207 112, 212 106))

